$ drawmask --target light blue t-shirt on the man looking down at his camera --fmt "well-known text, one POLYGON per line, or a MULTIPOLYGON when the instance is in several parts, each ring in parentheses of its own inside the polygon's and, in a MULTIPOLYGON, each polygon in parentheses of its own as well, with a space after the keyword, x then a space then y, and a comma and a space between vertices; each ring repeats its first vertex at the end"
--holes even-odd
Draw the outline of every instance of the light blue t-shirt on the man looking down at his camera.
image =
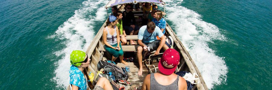
POLYGON ((158 26, 156 26, 155 31, 151 35, 151 33, 147 31, 147 26, 145 25, 140 28, 138 33, 138 39, 142 40, 143 43, 151 43, 157 40, 157 36, 161 37, 163 35, 164 34, 160 31, 160 28, 158 26))

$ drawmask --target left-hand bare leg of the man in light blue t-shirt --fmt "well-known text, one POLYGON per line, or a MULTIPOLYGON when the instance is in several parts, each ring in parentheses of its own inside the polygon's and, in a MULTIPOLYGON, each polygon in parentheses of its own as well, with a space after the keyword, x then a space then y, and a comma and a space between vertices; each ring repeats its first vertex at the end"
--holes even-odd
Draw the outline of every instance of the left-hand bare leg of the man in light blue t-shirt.
POLYGON ((143 47, 138 46, 138 48, 137 48, 137 58, 138 58, 138 62, 139 62, 139 72, 138 72, 139 76, 142 76, 142 73, 143 73, 143 64, 142 64, 143 56, 142 56, 142 52, 143 52, 143 47))

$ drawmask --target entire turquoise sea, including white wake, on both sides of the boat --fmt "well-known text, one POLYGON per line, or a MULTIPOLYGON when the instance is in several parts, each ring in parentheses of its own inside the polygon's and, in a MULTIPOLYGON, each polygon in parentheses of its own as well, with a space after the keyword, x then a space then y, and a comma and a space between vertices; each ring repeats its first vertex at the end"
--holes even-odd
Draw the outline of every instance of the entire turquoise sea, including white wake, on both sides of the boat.
MULTIPOLYGON (((86 51, 107 1, 0 0, 0 89, 65 89, 69 54, 86 51)), ((271 87, 272 1, 164 1, 209 89, 271 87)))

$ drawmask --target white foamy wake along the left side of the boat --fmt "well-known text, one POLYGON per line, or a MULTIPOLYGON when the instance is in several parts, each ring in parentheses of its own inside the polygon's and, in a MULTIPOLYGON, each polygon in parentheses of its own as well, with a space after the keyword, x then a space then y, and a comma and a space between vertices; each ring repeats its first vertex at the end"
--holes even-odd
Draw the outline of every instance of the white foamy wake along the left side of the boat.
POLYGON ((56 87, 66 88, 69 85, 70 53, 73 50, 86 51, 95 36, 93 28, 96 22, 104 21, 106 18, 106 9, 99 7, 105 6, 106 3, 107 0, 84 1, 79 10, 75 10, 75 14, 51 36, 60 37, 59 39, 64 40, 63 44, 66 45, 64 49, 55 52, 55 55, 62 56, 56 63, 56 76, 53 77, 53 82, 57 83, 56 87))

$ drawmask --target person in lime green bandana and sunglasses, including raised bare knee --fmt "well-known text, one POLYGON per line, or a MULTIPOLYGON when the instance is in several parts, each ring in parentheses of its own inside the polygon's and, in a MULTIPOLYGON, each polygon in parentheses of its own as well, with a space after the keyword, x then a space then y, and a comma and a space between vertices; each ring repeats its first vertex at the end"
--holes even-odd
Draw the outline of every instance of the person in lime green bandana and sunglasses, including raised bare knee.
MULTIPOLYGON (((70 54, 70 84, 72 90, 87 90, 87 84, 83 70, 90 65, 90 58, 88 55, 79 50, 74 50, 70 54)), ((98 80, 93 90, 113 90, 110 82, 105 77, 98 80)))

